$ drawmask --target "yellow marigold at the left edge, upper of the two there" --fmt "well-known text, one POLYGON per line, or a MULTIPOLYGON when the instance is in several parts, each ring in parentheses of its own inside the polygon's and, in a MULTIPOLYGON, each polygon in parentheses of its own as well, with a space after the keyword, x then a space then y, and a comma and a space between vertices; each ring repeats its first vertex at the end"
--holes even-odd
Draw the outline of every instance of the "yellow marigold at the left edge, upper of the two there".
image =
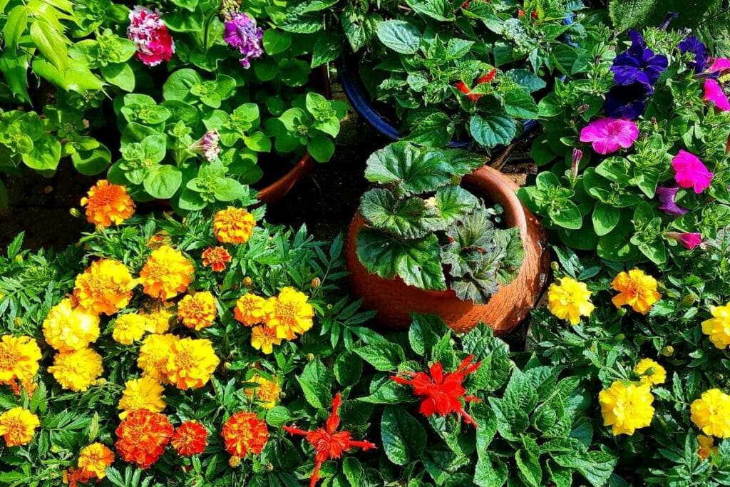
POLYGON ((41 349, 31 337, 3 335, 0 338, 0 384, 17 388, 20 394, 20 385, 28 389, 36 376, 40 359, 41 349))

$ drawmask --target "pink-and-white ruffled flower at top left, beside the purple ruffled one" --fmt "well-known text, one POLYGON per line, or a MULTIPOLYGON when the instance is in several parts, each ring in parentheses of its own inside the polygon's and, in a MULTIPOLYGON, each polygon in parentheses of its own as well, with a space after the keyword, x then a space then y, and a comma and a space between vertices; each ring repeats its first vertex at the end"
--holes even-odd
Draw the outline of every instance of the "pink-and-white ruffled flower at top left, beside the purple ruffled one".
POLYGON ((139 5, 129 12, 127 37, 137 45, 134 55, 147 66, 169 61, 175 52, 175 42, 159 12, 139 5))

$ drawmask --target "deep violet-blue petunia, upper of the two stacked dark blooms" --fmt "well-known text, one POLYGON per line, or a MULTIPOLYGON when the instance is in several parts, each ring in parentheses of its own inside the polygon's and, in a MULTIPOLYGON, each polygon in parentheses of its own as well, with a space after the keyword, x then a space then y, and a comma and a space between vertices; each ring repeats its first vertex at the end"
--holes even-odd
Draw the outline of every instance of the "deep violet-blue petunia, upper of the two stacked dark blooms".
POLYGON ((611 71, 617 85, 644 83, 653 86, 669 64, 665 55, 654 54, 637 31, 629 31, 631 47, 615 57, 611 71))

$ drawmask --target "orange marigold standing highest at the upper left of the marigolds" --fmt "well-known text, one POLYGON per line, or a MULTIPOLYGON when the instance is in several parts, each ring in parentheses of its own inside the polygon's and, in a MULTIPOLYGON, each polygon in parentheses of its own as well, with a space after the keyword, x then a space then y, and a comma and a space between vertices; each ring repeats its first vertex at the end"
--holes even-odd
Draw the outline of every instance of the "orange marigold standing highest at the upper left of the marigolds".
POLYGON ((86 220, 96 226, 119 225, 134 215, 134 202, 125 186, 99 180, 87 195, 81 199, 81 206, 86 207, 86 220))

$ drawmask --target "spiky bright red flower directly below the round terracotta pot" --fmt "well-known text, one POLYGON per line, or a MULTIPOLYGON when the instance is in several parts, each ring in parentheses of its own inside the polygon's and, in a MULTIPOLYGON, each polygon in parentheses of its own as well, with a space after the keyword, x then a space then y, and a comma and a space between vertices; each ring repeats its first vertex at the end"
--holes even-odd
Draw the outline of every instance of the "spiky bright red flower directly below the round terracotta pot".
POLYGON ((404 371, 400 372, 401 375, 391 376, 391 379, 413 388, 413 394, 421 398, 420 413, 424 416, 434 414, 446 416, 456 413, 464 418, 466 424, 476 427, 477 423, 464 410, 466 402, 480 402, 475 396, 467 396, 463 386, 466 376, 476 372, 482 365, 481 362, 472 364, 473 360, 474 356, 469 355, 461 361, 455 371, 446 374, 441 362, 435 362, 429 369, 430 375, 426 372, 404 371), (461 399, 464 399, 464 402, 461 402, 461 399))

